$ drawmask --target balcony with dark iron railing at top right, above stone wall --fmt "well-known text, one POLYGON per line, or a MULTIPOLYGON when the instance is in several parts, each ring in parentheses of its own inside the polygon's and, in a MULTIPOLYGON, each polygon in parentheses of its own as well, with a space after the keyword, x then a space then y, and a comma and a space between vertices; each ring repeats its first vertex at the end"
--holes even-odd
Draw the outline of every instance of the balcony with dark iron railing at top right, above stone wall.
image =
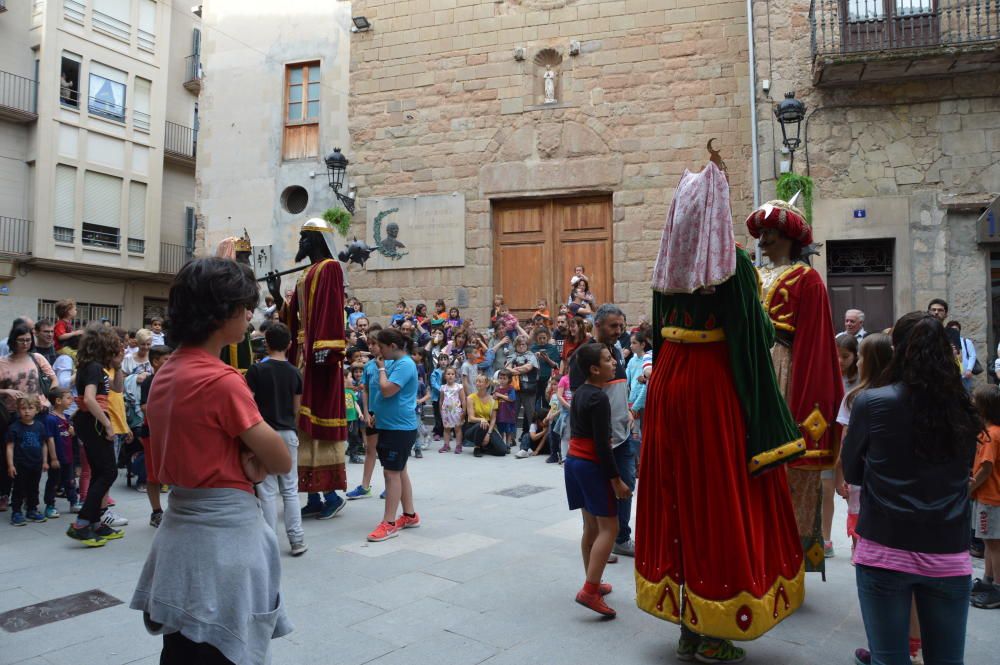
POLYGON ((812 0, 813 83, 1000 71, 1000 0, 812 0))

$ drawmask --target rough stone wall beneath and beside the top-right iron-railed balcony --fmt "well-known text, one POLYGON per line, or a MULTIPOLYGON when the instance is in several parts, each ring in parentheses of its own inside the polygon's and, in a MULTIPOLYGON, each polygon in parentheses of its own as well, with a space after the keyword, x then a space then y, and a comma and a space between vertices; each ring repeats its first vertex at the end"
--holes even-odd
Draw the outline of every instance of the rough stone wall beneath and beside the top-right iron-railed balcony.
MULTIPOLYGON (((908 281, 896 285, 896 314, 944 298, 982 357, 997 343, 990 330, 989 248, 976 243, 979 208, 949 201, 988 201, 1000 193, 1000 75, 814 88, 809 8, 808 0, 754 3, 758 78, 771 80, 770 96, 757 91, 765 197, 774 191, 782 158, 771 109, 794 90, 807 106, 806 148, 796 153, 795 170, 814 178, 818 203, 831 204, 817 208, 906 197, 907 238, 887 224, 871 224, 869 231, 873 238, 895 237, 896 263, 906 263, 896 275, 908 281)), ((845 227, 839 220, 815 224, 825 241, 837 237, 824 226, 845 227)))

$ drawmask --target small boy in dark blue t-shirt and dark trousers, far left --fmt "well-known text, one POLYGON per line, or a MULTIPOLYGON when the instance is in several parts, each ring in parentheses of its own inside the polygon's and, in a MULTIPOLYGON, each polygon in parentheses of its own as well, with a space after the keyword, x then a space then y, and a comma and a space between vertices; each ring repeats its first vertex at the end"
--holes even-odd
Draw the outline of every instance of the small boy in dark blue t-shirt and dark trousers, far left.
POLYGON ((45 522, 38 512, 38 484, 42 471, 49 470, 49 460, 55 467, 59 461, 55 444, 45 423, 35 420, 39 411, 38 397, 26 395, 17 400, 18 420, 7 428, 7 473, 13 480, 10 523, 24 526, 27 522, 45 522), (21 504, 25 511, 21 512, 21 504))

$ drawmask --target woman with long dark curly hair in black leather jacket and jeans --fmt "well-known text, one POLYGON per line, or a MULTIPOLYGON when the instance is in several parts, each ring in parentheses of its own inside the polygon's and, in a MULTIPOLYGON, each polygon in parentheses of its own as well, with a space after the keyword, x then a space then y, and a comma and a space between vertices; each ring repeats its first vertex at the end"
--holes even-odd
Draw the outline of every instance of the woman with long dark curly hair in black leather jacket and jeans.
POLYGON ((908 662, 915 601, 926 661, 961 663, 969 470, 983 425, 940 321, 911 312, 892 345, 888 383, 856 395, 841 452, 844 478, 861 486, 854 564, 871 662, 908 662))

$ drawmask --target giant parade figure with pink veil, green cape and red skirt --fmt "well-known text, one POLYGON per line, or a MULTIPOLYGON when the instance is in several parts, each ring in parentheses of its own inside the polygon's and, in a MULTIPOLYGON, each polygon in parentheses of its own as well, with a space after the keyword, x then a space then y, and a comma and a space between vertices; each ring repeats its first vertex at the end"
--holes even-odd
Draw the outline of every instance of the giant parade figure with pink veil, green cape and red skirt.
POLYGON ((802 604, 784 463, 805 443, 771 366, 774 327, 709 163, 674 193, 653 271, 636 602, 681 624, 682 660, 737 662, 802 604))

